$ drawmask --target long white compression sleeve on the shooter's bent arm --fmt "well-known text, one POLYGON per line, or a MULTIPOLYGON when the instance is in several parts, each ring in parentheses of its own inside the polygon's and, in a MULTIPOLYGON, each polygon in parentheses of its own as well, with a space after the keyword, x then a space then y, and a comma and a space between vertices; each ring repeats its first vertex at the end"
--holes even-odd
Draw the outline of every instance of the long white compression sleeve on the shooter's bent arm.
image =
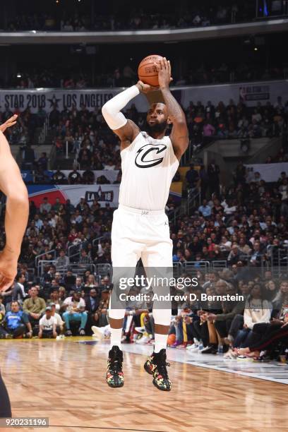
POLYGON ((103 105, 102 114, 110 129, 116 130, 126 125, 127 119, 120 111, 139 93, 138 87, 133 85, 124 90, 124 92, 119 93, 119 95, 112 97, 112 99, 103 105))

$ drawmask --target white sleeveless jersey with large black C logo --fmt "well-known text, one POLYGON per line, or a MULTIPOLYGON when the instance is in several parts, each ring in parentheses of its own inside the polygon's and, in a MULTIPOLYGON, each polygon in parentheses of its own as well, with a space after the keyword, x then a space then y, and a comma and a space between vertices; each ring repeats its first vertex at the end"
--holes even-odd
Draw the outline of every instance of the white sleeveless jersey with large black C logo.
POLYGON ((121 151, 119 204, 139 210, 164 210, 179 167, 169 136, 156 140, 146 132, 121 151))

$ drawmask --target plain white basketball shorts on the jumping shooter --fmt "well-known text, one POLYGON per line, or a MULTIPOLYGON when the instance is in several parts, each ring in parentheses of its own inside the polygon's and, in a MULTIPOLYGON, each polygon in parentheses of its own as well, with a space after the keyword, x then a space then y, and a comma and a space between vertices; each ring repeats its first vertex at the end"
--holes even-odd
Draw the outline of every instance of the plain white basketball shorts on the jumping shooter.
POLYGON ((138 210, 124 205, 114 211, 112 223, 113 267, 172 268, 172 240, 164 210, 138 210))

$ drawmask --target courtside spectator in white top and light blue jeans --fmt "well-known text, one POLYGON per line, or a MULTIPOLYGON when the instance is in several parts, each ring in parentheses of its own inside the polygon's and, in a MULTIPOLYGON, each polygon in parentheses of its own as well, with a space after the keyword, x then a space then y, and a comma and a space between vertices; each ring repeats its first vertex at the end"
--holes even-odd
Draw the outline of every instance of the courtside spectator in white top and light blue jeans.
POLYGON ((72 336, 70 330, 71 321, 80 322, 78 329, 80 336, 85 336, 85 325, 87 323, 88 314, 85 312, 85 301, 81 299, 80 292, 73 292, 73 296, 67 297, 64 300, 64 307, 66 312, 63 314, 63 318, 66 325, 66 336, 72 336))

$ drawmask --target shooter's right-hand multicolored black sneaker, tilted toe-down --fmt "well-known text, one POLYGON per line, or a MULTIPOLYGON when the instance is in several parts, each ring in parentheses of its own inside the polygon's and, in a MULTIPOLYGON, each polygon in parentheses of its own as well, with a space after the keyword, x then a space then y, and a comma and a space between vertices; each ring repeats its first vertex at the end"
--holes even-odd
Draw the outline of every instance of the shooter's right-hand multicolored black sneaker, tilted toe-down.
POLYGON ((161 349, 158 353, 153 352, 152 356, 148 357, 144 364, 145 371, 153 376, 152 382, 155 387, 164 392, 171 390, 167 366, 170 366, 170 364, 166 362, 166 349, 161 349))

